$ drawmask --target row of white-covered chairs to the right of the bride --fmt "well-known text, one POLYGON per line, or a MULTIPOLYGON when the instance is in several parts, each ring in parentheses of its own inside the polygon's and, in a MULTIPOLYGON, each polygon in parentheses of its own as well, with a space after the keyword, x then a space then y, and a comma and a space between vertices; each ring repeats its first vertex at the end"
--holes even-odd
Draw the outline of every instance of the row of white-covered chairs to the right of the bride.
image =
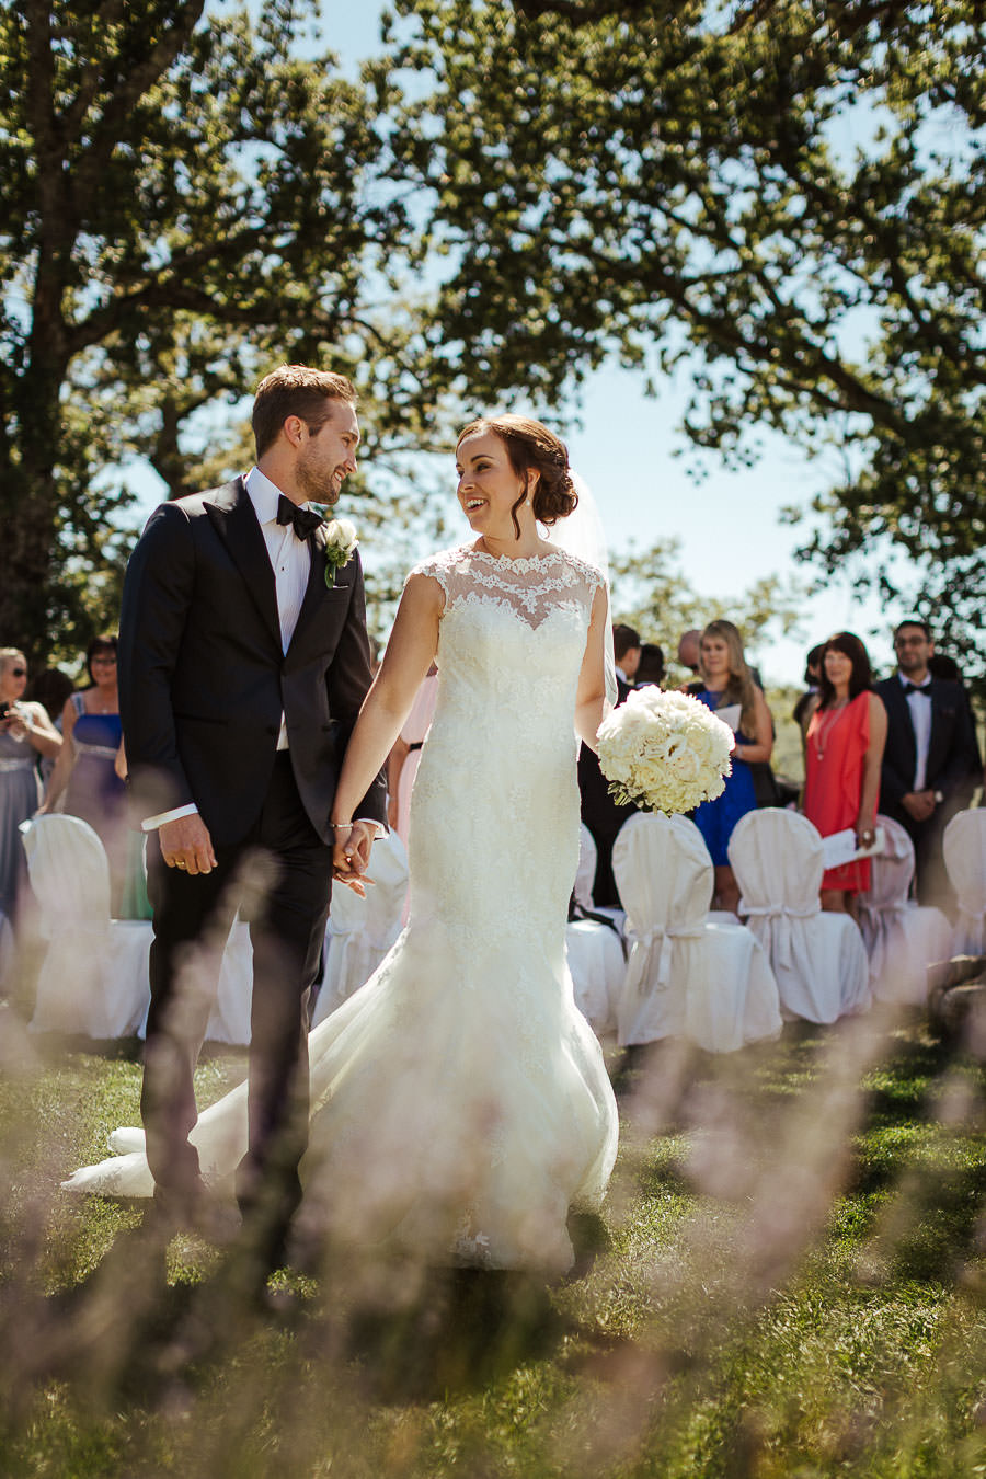
MULTIPOLYGON (((625 916, 608 913, 624 932, 630 958, 622 973, 612 970, 606 997, 591 976, 581 979, 569 942, 577 998, 596 1029, 615 1029, 625 1046, 683 1035, 727 1052, 775 1032, 778 1010, 781 1018, 834 1022, 865 1010, 874 997, 922 1004, 931 961, 986 951, 986 812, 961 813, 946 833, 946 865, 959 899, 953 927, 939 910, 908 898, 911 839, 893 819, 878 821, 885 852, 874 858, 857 929, 849 916, 822 913, 822 839, 794 812, 751 812, 733 833, 729 856, 745 926, 708 910, 713 865, 689 821, 628 818, 613 846, 625 916)), ((591 910, 590 837, 584 853, 577 895, 591 910)))

